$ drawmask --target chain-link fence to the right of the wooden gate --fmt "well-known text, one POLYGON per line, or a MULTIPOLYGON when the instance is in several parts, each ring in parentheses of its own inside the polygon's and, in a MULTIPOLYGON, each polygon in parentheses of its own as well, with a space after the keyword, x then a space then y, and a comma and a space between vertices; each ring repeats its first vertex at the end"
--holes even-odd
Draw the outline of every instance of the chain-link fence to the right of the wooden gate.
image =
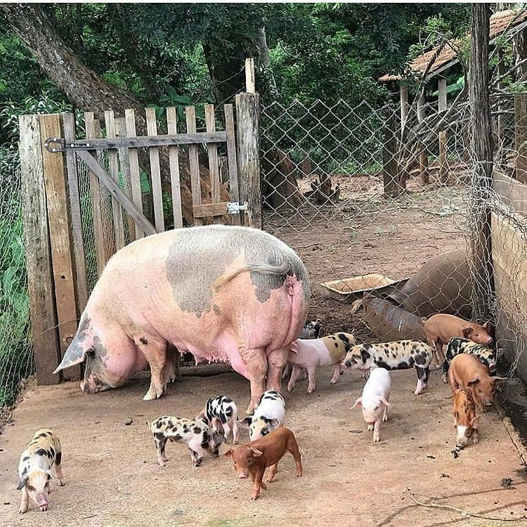
MULTIPOLYGON (((516 173, 513 96, 493 98, 491 109, 495 177, 507 178, 516 173)), ((306 263, 310 318, 326 333, 353 330, 358 341, 422 339, 422 317, 434 313, 477 318, 472 286, 482 282, 486 317, 499 325, 497 346, 515 372, 525 346, 518 329, 527 310, 516 304, 526 299, 527 230, 507 196, 510 181, 501 195, 473 185, 469 110, 466 100, 448 119, 436 103, 411 105, 402 119, 396 103, 263 108, 265 228, 306 263), (493 219, 487 238, 475 222, 482 214, 493 219), (496 275, 481 261, 482 243, 493 247, 496 275)))

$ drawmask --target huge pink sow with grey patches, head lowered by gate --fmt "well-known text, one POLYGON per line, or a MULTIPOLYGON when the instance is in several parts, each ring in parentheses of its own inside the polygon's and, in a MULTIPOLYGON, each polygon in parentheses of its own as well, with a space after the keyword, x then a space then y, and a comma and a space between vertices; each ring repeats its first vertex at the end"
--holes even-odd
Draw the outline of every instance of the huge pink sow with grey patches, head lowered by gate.
POLYGON ((108 261, 55 371, 85 361, 81 389, 94 393, 150 365, 144 397, 150 400, 176 377, 176 347, 196 363, 230 363, 249 379, 250 413, 266 386, 281 390, 309 294, 299 256, 262 230, 167 230, 136 240, 108 261))

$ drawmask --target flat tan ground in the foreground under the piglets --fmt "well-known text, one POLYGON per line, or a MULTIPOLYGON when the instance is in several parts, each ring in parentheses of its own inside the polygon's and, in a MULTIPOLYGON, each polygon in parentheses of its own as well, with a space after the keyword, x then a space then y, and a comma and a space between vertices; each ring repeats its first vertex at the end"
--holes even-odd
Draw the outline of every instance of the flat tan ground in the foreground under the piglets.
MULTIPOLYGON (((318 389, 306 382, 285 394, 286 426, 301 450, 304 476, 294 476, 287 455, 275 482, 256 502, 249 481, 235 478, 223 455, 194 468, 186 445, 169 443, 167 467, 156 464, 146 422, 160 415, 193 417, 210 396, 228 393, 245 408, 248 382, 235 373, 183 377, 166 397, 142 401, 148 379, 86 396, 78 383, 36 386, 13 411, 0 436, 0 523, 2 526, 487 526, 434 502, 467 511, 518 519, 527 514, 526 471, 495 410, 481 418, 479 445, 455 459, 450 389, 438 371, 428 391, 414 396, 415 372, 393 372, 393 409, 372 443, 358 408, 349 407, 364 380, 346 371, 331 385, 330 367, 319 370, 318 389), (128 419, 133 422, 126 425, 128 419), (18 456, 39 427, 52 427, 63 443, 66 485, 52 486, 48 512, 31 507, 18 514, 18 456), (502 486, 503 479, 511 483, 502 486)), ((243 431, 241 441, 247 441, 243 431)), ((229 446, 222 445, 221 454, 229 446)), ((492 522, 510 525, 511 522, 492 522)))

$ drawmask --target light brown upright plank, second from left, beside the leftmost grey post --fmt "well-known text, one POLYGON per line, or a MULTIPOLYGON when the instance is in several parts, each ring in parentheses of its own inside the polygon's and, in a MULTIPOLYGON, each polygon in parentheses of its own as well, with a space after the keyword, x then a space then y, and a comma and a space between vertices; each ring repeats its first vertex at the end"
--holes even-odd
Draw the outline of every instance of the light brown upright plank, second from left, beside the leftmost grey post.
MULTIPOLYGON (((42 145, 42 163, 46 201, 48 204, 48 224, 51 240, 51 261, 55 282, 60 357, 77 331, 77 304, 75 299, 74 268, 72 257, 70 217, 67 200, 66 171, 64 155, 51 153, 44 148, 48 137, 62 137, 63 126, 59 114, 39 115, 42 145)), ((80 366, 63 370, 63 378, 80 378, 80 366)))

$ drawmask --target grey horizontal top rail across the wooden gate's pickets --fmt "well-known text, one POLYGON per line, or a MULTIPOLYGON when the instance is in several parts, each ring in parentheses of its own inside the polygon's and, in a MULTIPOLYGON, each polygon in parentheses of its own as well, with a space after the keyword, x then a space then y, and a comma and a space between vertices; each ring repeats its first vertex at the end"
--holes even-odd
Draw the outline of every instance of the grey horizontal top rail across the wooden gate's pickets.
POLYGON ((76 150, 108 150, 108 148, 141 148, 150 146, 200 145, 203 143, 225 143, 225 131, 194 132, 163 136, 116 137, 106 139, 77 139, 76 150))

